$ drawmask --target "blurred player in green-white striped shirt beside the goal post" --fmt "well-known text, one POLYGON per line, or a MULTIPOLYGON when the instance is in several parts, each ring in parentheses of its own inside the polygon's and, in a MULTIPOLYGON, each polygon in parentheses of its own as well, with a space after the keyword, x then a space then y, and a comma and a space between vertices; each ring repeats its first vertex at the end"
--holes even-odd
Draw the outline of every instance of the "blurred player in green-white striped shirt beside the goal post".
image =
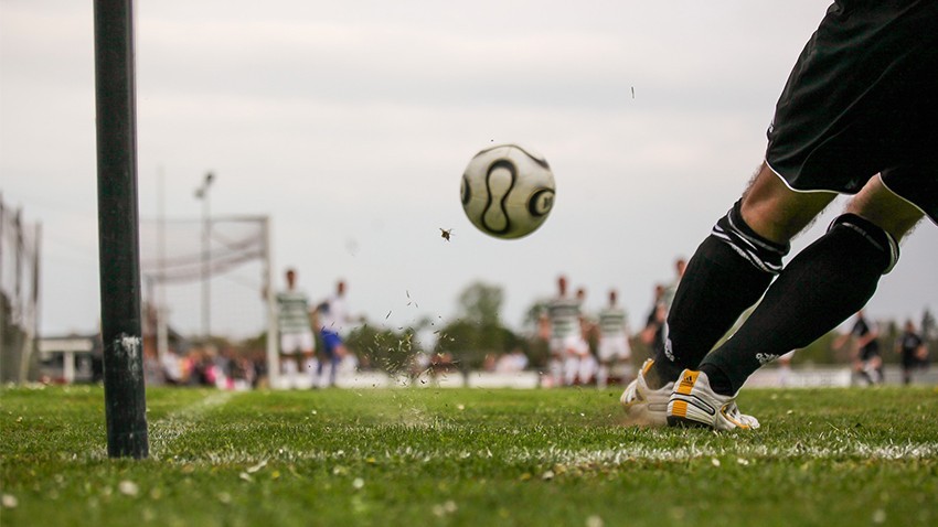
POLYGON ((297 271, 287 269, 287 289, 277 293, 277 324, 280 332, 280 362, 287 384, 297 386, 297 375, 306 367, 315 383, 316 338, 310 324, 309 297, 297 288, 297 271))

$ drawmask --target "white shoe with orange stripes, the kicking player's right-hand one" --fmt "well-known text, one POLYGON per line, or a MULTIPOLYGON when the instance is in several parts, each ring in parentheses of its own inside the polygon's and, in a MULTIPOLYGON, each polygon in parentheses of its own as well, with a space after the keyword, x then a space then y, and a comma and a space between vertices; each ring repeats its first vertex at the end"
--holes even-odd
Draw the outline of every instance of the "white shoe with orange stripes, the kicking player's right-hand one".
POLYGON ((720 395, 710 387, 703 372, 685 369, 668 401, 668 424, 707 427, 714 430, 759 428, 759 421, 736 406, 736 396, 720 395))

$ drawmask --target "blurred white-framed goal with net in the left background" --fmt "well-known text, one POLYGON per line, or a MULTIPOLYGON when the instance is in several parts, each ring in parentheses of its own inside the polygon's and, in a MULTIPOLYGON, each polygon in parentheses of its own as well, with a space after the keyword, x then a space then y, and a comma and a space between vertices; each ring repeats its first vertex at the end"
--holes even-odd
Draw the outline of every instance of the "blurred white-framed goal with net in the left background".
POLYGON ((140 273, 150 313, 145 333, 156 333, 160 357, 171 335, 266 342, 270 366, 276 312, 267 216, 141 219, 140 273))

